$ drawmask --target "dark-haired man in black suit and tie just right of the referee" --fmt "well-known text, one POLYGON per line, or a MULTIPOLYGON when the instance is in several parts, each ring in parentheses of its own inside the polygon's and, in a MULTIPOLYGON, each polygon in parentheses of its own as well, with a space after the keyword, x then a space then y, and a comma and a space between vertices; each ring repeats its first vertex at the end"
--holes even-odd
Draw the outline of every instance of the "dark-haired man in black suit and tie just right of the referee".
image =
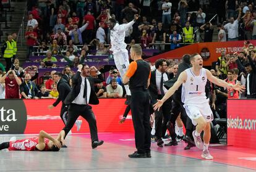
MULTIPOLYGON (((151 104, 155 104, 157 99, 160 100, 163 98, 165 92, 168 90, 164 88, 164 81, 168 81, 170 76, 166 72, 169 66, 169 61, 166 59, 158 59, 155 62, 156 70, 151 72, 150 78, 150 86, 148 90, 150 92, 150 100, 151 104)), ((161 139, 164 137, 166 133, 166 125, 170 120, 171 116, 171 98, 164 102, 161 109, 155 110, 155 129, 156 129, 156 142, 159 147, 163 147, 163 140, 161 139)), ((173 136, 173 134, 171 134, 173 136)), ((177 145, 176 137, 172 138, 172 142, 169 145, 177 145)))

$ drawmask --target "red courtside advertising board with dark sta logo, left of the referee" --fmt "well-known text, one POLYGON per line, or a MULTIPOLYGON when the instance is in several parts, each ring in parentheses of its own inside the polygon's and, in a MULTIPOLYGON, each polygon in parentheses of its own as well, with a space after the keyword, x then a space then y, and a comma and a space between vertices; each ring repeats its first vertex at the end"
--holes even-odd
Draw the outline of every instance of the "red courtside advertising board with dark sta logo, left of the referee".
MULTIPOLYGON (((49 110, 48 105, 53 104, 54 99, 17 99, 0 100, 0 134, 38 134, 41 129, 48 133, 59 133, 64 123, 59 117, 61 103, 49 110)), ((134 132, 131 112, 127 120, 119 125, 126 105, 125 99, 100 99, 99 105, 93 105, 98 132, 134 132)), ((82 121, 80 129, 76 125, 72 133, 88 133, 89 126, 86 120, 82 121)))

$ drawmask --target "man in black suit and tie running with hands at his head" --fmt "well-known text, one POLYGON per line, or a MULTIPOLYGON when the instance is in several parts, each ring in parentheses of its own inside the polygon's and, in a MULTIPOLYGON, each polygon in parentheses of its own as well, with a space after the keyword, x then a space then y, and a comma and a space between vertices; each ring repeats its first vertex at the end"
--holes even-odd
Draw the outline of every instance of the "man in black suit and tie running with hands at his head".
POLYGON ((75 121, 81 115, 87 120, 90 127, 90 134, 92 139, 92 148, 103 144, 103 141, 98 140, 98 131, 96 126, 96 118, 92 111, 92 107, 88 104, 99 104, 98 97, 94 90, 95 83, 102 82, 100 72, 95 68, 98 78, 90 76, 90 68, 88 65, 78 65, 77 73, 72 78, 72 91, 69 92, 64 104, 69 105, 67 124, 62 129, 65 131, 65 137, 70 129, 74 126, 75 121))

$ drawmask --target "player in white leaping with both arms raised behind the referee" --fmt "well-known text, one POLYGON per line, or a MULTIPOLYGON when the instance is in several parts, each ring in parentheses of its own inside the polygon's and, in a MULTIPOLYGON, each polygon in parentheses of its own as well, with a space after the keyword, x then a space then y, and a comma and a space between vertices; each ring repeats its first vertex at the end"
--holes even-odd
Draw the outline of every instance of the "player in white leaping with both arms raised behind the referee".
MULTIPOLYGON (((134 15, 134 20, 129 23, 119 25, 114 18, 111 18, 108 12, 108 27, 110 30, 110 41, 111 41, 111 51, 113 51, 114 55, 114 63, 116 68, 119 70, 120 76, 124 76, 128 67, 129 67, 129 55, 126 49, 127 44, 124 43, 124 38, 126 36, 125 31, 128 30, 132 25, 138 20, 139 15, 134 15)), ((126 89, 126 105, 130 104, 130 89, 126 84, 124 86, 126 89)))

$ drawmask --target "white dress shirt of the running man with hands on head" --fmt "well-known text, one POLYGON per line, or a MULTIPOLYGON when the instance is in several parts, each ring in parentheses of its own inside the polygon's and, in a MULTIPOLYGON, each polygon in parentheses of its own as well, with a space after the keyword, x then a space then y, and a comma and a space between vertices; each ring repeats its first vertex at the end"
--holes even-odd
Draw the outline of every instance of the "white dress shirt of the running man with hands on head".
POLYGON ((72 104, 79 104, 79 105, 85 105, 89 103, 90 95, 91 95, 91 86, 89 80, 86 78, 86 83, 87 83, 87 103, 85 101, 85 98, 83 98, 83 92, 85 90, 85 77, 82 77, 82 83, 81 83, 81 88, 79 95, 75 97, 75 99, 72 101, 72 104))

